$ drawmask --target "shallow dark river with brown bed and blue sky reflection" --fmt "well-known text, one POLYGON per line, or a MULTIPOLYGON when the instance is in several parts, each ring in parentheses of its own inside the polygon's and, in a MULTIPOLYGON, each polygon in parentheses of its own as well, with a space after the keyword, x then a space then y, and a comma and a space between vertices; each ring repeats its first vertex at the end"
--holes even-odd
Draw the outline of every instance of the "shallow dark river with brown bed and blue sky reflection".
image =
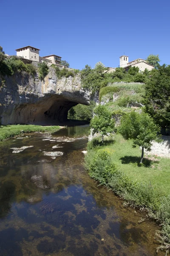
POLYGON ((156 223, 139 223, 143 213, 85 172, 88 130, 0 143, 0 256, 164 255, 156 253, 156 223))

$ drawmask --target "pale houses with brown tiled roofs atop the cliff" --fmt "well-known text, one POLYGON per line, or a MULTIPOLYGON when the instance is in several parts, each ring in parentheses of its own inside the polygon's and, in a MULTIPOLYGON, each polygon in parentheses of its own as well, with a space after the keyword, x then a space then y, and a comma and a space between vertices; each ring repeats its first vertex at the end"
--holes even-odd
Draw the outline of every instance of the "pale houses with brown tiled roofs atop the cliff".
POLYGON ((64 67, 61 65, 61 58, 60 56, 57 55, 48 55, 41 57, 39 54, 40 49, 31 47, 31 46, 26 46, 22 48, 16 49, 17 51, 17 56, 26 58, 31 61, 37 61, 37 62, 46 62, 48 66, 51 66, 51 64, 55 64, 59 67, 64 67))

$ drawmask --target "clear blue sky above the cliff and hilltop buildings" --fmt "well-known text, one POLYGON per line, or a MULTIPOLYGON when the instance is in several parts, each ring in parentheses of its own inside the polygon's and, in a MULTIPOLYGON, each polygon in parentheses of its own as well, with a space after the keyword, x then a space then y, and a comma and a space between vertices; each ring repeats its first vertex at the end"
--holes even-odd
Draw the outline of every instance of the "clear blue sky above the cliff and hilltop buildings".
POLYGON ((170 0, 0 0, 0 45, 31 45, 82 69, 159 54, 170 64, 170 0))

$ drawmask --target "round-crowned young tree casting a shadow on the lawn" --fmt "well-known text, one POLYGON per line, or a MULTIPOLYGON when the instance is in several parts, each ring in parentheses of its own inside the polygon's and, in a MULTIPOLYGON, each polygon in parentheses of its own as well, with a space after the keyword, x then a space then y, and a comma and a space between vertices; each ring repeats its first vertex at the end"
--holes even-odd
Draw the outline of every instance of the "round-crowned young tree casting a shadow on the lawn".
POLYGON ((140 163, 143 161, 144 148, 150 151, 153 140, 158 140, 158 133, 160 132, 153 119, 146 113, 139 113, 131 111, 122 116, 119 132, 125 140, 133 139, 134 146, 142 147, 142 155, 140 163))

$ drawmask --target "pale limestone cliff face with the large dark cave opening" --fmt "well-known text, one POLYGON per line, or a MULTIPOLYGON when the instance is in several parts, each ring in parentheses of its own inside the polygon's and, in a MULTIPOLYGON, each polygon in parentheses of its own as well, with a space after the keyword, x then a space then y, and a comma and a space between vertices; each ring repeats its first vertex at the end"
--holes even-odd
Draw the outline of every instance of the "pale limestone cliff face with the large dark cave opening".
POLYGON ((90 93, 82 89, 81 78, 58 79, 54 69, 40 81, 28 73, 0 77, 0 123, 47 123, 67 120, 70 108, 89 105, 90 93))

